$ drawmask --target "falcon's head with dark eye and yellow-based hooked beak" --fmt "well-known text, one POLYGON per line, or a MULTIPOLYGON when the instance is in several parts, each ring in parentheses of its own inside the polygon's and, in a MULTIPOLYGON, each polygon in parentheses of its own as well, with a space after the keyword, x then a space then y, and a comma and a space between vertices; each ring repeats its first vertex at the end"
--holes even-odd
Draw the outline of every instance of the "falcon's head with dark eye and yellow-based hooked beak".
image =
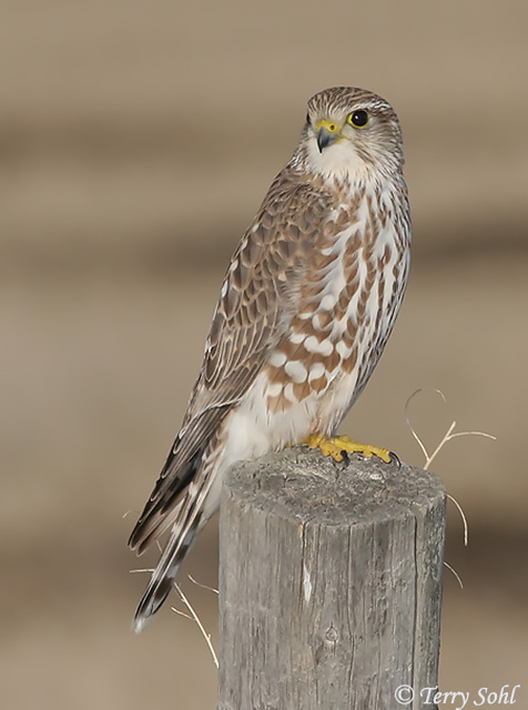
POLYGON ((316 93, 294 154, 303 169, 353 182, 402 170, 398 118, 380 97, 352 87, 316 93))

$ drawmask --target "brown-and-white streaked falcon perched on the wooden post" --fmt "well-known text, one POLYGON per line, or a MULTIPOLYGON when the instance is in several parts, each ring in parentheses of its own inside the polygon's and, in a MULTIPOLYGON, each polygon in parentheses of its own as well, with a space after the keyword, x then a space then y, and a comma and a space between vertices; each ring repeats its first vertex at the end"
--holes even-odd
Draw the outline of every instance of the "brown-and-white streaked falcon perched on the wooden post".
POLYGON ((169 532, 138 606, 141 631, 217 511, 237 460, 293 444, 378 456, 336 436, 376 366, 409 271, 410 213, 398 118, 337 87, 307 104, 301 140, 233 254, 182 427, 129 545, 169 532))

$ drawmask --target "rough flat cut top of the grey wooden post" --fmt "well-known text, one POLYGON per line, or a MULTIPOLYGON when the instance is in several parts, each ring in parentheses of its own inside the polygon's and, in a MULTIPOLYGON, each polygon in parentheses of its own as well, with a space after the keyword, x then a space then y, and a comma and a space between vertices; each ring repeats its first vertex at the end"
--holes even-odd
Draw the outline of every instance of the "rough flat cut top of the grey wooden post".
POLYGON ((336 463, 302 447, 235 464, 226 487, 252 505, 273 501, 274 515, 347 525, 394 519, 446 495, 437 476, 407 464, 358 456, 336 463))

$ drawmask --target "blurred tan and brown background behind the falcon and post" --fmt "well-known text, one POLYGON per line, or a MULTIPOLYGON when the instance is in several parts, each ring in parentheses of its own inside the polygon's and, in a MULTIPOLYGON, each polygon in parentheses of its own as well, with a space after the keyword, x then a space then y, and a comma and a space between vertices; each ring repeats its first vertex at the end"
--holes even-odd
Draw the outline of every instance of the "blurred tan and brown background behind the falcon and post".
MULTIPOLYGON (((3 0, 0 8, 2 707, 214 708, 195 626, 130 631, 125 548, 196 375, 227 260, 305 102, 356 84, 402 120, 414 263, 344 430, 423 456, 454 508, 444 690, 528 660, 526 2, 3 0), (135 515, 135 514, 134 514, 135 515)), ((211 525, 186 566, 216 584, 211 525)), ((184 582, 216 635, 214 595, 184 582)), ((173 600, 175 601, 175 599, 173 600)), ((528 688, 518 691, 528 708, 528 688)))

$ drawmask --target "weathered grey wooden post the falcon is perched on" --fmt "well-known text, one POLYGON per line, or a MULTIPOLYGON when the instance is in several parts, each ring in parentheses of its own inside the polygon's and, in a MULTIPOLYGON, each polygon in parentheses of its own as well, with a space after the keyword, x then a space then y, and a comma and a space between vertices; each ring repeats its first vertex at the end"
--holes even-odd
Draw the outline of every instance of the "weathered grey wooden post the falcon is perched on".
POLYGON ((234 466, 220 523, 219 710, 425 708, 445 496, 405 464, 305 448, 234 466))

